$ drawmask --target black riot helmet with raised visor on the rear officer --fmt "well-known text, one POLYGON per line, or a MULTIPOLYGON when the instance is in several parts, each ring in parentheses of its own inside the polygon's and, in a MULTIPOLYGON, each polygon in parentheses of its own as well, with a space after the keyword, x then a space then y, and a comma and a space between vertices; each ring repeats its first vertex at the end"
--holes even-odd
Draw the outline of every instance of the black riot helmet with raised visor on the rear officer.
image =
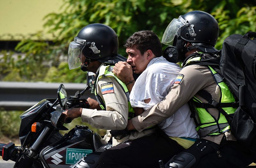
POLYGON ((173 19, 166 28, 162 38, 162 43, 168 45, 164 57, 179 62, 185 59, 185 53, 194 48, 205 53, 217 51, 214 46, 218 36, 219 24, 211 14, 198 10, 188 12, 173 19), (193 46, 185 48, 186 42, 193 46))

